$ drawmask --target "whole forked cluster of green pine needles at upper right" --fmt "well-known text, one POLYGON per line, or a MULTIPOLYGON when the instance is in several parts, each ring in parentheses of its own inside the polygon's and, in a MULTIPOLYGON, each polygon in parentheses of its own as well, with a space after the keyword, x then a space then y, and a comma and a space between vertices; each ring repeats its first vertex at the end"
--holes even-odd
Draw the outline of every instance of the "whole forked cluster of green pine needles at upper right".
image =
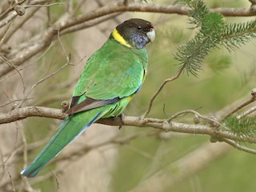
POLYGON ((226 23, 222 14, 211 13, 202 0, 181 0, 180 3, 190 9, 190 23, 198 28, 195 37, 174 54, 188 74, 197 76, 202 62, 214 48, 224 46, 231 51, 256 38, 256 21, 226 23))

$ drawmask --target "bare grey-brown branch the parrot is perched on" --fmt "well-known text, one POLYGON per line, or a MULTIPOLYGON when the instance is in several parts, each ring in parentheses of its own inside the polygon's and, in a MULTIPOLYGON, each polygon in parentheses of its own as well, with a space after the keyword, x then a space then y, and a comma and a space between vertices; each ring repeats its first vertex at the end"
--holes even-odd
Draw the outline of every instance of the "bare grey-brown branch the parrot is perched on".
MULTIPOLYGON (((66 116, 67 114, 63 113, 62 110, 42 106, 26 106, 12 110, 7 114, 0 114, 0 124, 14 122, 28 117, 64 119, 66 116)), ((158 130, 174 131, 186 134, 207 134, 214 138, 220 138, 220 140, 222 140, 222 138, 229 138, 239 142, 256 143, 256 138, 240 137, 227 131, 213 129, 212 126, 167 122, 166 119, 124 116, 122 118, 103 118, 97 122, 110 126, 152 127, 158 130)))

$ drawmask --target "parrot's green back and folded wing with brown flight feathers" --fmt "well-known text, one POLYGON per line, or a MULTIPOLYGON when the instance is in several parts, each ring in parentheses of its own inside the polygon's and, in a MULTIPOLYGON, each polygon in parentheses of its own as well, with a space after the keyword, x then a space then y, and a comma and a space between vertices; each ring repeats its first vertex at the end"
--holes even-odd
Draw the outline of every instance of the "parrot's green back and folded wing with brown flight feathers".
POLYGON ((106 106, 136 93, 146 68, 146 49, 128 48, 110 38, 86 63, 67 114, 106 106))

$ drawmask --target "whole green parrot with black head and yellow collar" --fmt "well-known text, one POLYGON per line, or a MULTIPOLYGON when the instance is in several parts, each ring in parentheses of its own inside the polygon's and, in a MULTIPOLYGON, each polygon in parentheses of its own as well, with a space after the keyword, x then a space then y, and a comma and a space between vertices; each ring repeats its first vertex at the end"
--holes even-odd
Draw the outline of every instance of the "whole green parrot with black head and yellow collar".
POLYGON ((122 113, 145 79, 145 46, 154 37, 153 25, 138 18, 122 22, 114 29, 86 62, 66 110, 67 118, 34 161, 22 170, 22 176, 33 178, 98 119, 122 113))

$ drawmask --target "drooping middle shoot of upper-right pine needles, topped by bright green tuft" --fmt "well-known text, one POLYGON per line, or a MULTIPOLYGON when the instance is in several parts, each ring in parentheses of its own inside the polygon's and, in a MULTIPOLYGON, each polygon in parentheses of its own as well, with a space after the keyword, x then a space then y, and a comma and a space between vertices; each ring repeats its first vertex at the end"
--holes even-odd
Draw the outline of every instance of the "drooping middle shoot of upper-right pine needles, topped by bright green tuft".
POLYGON ((174 54, 174 58, 181 66, 185 65, 186 71, 194 76, 202 69, 202 62, 207 54, 217 46, 222 28, 225 25, 222 15, 208 13, 201 22, 198 34, 181 46, 174 54))

